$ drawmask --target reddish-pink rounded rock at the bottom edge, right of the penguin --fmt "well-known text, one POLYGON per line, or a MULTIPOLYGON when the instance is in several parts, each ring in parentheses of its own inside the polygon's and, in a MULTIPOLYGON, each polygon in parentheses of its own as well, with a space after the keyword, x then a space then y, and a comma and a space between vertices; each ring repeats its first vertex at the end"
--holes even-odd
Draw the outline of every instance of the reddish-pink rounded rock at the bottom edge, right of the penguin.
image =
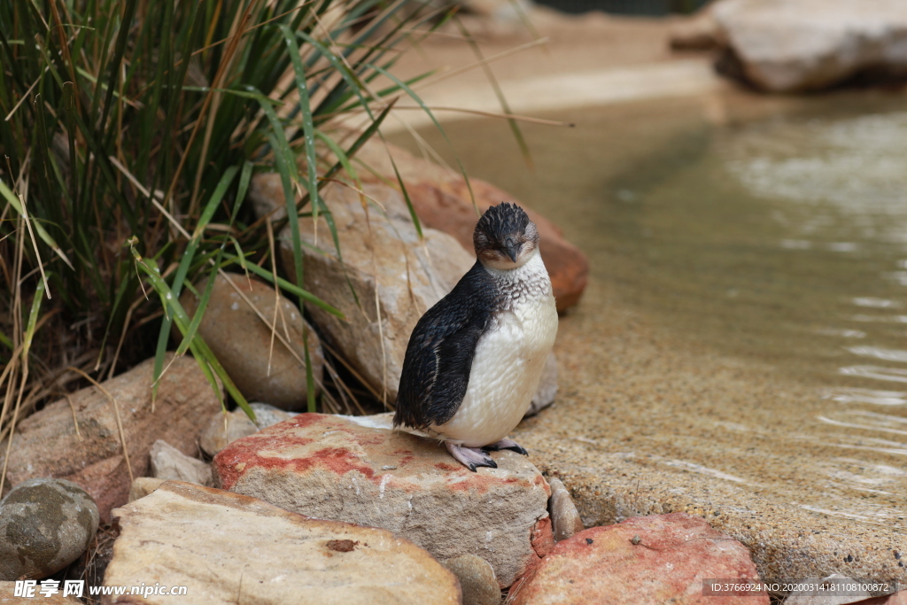
POLYGON ((702 519, 675 512, 593 527, 558 542, 513 586, 508 603, 768 603, 766 594, 703 596, 702 581, 711 578, 756 579, 758 574, 743 544, 702 519))

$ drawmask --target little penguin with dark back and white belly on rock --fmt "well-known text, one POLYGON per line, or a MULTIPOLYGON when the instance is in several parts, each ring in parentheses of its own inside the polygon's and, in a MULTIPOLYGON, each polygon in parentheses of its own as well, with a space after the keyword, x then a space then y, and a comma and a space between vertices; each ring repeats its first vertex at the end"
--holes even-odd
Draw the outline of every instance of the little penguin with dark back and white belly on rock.
POLYGON ((419 319, 406 347, 394 426, 444 442, 475 472, 489 451, 528 454, 507 435, 532 403, 558 331, 539 230, 516 204, 484 212, 477 257, 419 319))

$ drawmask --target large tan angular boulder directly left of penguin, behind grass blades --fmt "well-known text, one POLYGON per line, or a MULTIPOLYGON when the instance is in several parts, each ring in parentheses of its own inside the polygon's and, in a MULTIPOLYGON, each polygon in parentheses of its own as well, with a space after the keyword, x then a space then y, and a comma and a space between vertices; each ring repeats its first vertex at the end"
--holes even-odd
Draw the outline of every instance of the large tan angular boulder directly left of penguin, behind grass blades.
MULTIPOLYGON (((378 200, 386 214, 369 207, 366 216, 363 200, 347 187, 328 184, 321 193, 334 217, 343 265, 336 257, 326 222, 319 219, 316 238, 314 221, 299 219, 300 236, 307 244, 302 248, 305 287, 342 311, 346 319, 311 305, 307 310, 331 346, 378 395, 384 395, 386 385, 387 400, 393 402, 415 323, 453 289, 474 259, 441 231, 424 229, 421 241, 396 190, 383 183, 364 187, 366 196, 378 200), (380 307, 380 326, 375 300, 380 307)), ((277 174, 256 175, 249 195, 259 215, 284 206, 277 174)), ((293 267, 287 231, 280 242, 285 266, 293 267)))

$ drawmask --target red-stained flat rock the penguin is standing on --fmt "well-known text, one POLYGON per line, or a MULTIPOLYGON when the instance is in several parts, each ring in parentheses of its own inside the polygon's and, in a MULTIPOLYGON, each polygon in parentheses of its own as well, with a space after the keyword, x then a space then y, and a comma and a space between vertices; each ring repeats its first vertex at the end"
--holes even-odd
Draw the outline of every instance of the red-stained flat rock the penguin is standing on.
POLYGON ((390 530, 439 561, 478 555, 502 588, 550 548, 551 491, 529 458, 494 453, 497 469, 472 473, 437 442, 375 428, 372 418, 301 414, 243 437, 215 456, 215 484, 310 517, 390 530))

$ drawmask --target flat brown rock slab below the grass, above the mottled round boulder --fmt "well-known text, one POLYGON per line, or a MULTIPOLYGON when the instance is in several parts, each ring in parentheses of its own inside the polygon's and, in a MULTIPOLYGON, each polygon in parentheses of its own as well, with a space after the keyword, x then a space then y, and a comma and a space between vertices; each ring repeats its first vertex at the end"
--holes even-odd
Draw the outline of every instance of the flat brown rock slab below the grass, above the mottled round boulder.
MULTIPOLYGON (((168 356, 165 366, 170 360, 168 356)), ((157 439, 183 454, 196 454, 199 418, 220 407, 198 364, 184 356, 173 361, 161 377, 152 411, 153 367, 154 360, 149 359, 102 383, 119 409, 133 477, 149 474, 149 452, 157 439)), ((126 503, 132 483, 117 416, 111 399, 97 387, 77 391, 69 400, 73 407, 62 399, 16 426, 6 485, 42 476, 73 481, 92 496, 102 521, 106 521, 113 507, 126 503)), ((2 442, 0 452, 5 451, 2 442)), ((0 455, 0 464, 2 461, 0 455)))

